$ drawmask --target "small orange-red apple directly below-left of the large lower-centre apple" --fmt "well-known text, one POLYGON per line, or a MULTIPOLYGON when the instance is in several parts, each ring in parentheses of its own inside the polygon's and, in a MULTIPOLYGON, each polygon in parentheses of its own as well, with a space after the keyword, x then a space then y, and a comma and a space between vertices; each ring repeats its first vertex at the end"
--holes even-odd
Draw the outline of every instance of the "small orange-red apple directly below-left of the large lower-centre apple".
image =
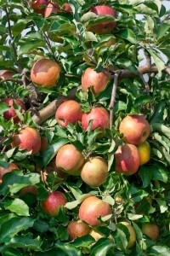
POLYGON ((70 240, 74 240, 77 237, 88 235, 91 228, 83 222, 81 219, 71 220, 67 226, 67 232, 70 240))

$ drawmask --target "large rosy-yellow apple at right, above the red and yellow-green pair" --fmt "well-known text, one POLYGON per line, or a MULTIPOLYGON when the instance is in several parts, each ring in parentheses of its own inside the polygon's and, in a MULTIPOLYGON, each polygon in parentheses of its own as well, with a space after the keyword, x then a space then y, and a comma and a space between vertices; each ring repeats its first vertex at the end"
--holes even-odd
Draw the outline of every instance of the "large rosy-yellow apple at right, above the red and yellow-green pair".
POLYGON ((122 140, 124 142, 140 145, 150 135, 150 124, 144 119, 144 115, 127 115, 119 125, 119 132, 123 133, 122 140))

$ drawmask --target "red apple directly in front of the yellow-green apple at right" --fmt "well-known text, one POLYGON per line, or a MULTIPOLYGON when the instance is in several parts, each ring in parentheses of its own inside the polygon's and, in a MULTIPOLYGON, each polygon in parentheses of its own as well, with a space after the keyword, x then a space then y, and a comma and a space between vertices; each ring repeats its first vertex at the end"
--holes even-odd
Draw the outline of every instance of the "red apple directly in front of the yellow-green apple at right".
POLYGON ((117 173, 132 175, 139 169, 139 150, 133 144, 119 146, 115 153, 117 173))

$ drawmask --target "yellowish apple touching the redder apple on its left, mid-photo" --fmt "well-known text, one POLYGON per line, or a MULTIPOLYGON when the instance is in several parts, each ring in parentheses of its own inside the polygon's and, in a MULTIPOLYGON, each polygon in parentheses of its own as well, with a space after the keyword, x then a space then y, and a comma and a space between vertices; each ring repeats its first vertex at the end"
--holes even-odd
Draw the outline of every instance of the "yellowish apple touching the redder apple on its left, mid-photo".
POLYGON ((108 174, 108 166, 104 158, 92 157, 83 166, 81 170, 82 180, 90 187, 99 187, 105 183, 108 174))

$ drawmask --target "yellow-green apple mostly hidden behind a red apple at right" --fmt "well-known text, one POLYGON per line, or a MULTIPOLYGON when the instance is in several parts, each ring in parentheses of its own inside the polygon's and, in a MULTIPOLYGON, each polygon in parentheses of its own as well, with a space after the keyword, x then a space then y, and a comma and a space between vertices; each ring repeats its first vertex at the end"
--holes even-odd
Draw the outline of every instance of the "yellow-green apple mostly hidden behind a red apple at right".
POLYGON ((139 149, 140 166, 143 166, 150 160, 150 143, 145 141, 137 148, 139 149))

